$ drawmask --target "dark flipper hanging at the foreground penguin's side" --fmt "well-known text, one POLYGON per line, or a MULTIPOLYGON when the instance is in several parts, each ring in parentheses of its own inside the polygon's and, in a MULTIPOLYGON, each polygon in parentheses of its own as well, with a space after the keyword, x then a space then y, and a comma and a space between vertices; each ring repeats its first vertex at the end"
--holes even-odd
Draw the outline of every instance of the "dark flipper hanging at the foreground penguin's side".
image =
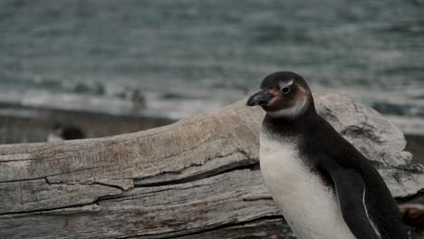
POLYGON ((381 238, 371 225, 363 202, 366 186, 361 174, 355 169, 340 167, 332 160, 321 162, 319 167, 332 179, 343 219, 352 234, 361 239, 381 238))

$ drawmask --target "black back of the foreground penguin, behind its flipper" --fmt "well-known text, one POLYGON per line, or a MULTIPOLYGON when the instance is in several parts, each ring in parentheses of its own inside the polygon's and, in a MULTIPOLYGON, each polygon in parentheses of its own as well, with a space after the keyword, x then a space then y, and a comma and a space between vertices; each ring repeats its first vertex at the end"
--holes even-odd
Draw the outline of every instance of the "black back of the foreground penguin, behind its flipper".
MULTIPOLYGON (((306 154, 324 156, 331 159, 331 164, 336 167, 350 168, 361 175, 365 184, 361 192, 361 200, 372 227, 381 238, 407 238, 398 206, 380 173, 369 159, 365 158, 322 117, 318 117, 314 127, 304 132, 303 139, 299 146, 306 154)), ((321 176, 329 181, 332 180, 328 175, 321 176)))

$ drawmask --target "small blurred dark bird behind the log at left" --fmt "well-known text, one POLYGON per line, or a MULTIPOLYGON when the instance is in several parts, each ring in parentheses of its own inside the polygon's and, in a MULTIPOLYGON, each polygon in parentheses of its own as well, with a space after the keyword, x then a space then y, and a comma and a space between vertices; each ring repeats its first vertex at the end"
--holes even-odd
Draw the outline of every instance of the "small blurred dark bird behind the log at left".
POLYGON ((48 142, 72 139, 85 139, 85 134, 82 129, 72 125, 64 126, 59 123, 53 125, 53 128, 47 136, 48 142))

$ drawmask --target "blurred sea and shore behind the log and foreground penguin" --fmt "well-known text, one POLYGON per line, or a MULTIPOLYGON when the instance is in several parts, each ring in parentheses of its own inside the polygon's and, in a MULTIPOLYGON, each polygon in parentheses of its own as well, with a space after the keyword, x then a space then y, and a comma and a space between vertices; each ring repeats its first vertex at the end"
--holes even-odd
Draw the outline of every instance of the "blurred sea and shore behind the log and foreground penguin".
POLYGON ((3 144, 169 124, 288 70, 380 111, 422 157, 422 0, 1 0, 0 33, 3 144))

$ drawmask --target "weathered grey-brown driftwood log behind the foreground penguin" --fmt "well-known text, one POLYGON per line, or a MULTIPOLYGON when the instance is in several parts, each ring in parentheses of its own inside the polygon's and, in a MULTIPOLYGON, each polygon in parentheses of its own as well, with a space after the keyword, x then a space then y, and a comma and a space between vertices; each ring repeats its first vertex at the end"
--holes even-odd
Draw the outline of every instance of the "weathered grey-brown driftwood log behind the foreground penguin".
MULTIPOLYGON (((320 114, 379 168, 393 196, 424 188, 399 129, 349 98, 320 114)), ((166 127, 0 146, 0 238, 278 238, 289 231, 258 170, 264 113, 238 102, 166 127)))

